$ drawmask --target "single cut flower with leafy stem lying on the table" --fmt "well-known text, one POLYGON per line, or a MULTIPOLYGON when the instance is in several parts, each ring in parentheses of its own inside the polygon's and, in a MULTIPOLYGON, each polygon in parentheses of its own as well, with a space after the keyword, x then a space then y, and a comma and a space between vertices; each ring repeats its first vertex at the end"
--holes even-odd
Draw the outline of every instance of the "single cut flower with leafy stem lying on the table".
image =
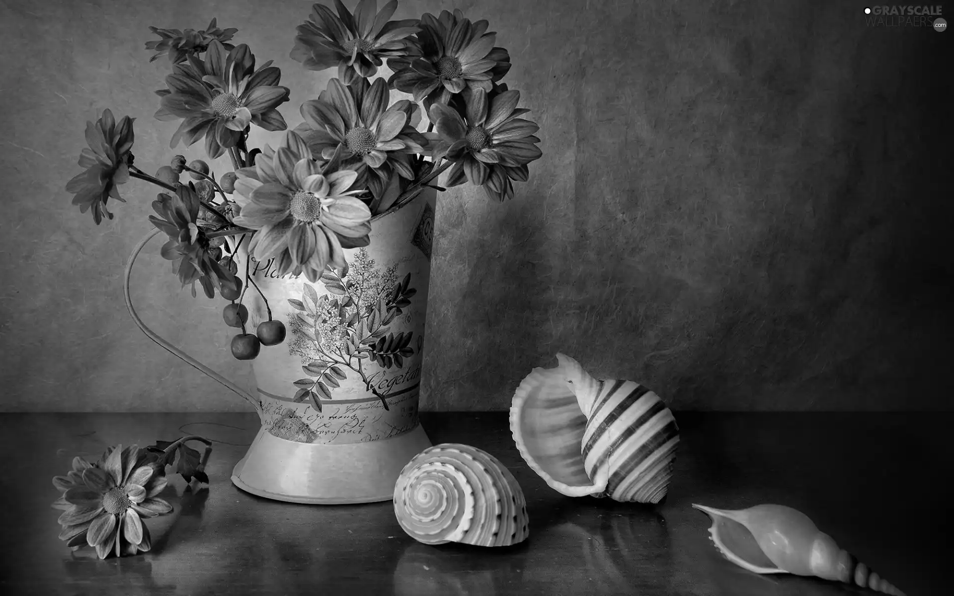
POLYGON ((186 482, 195 478, 208 483, 205 464, 212 442, 201 437, 183 437, 176 442, 158 441, 139 449, 137 445, 110 447, 96 462, 73 458, 66 476, 53 477, 62 492, 52 506, 63 510, 58 522, 60 540, 73 549, 93 546, 100 559, 135 555, 152 548, 149 528, 143 518, 171 513, 173 506, 158 497, 168 483, 166 465, 176 462, 176 473, 186 482), (199 457, 187 441, 206 443, 199 457))

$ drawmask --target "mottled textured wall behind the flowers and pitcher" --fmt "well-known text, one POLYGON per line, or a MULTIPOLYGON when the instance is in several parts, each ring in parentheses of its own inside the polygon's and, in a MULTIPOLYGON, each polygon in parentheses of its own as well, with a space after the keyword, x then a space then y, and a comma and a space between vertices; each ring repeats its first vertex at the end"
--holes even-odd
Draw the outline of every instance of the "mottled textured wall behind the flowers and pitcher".
MULTIPOLYGON (((125 186, 99 227, 63 187, 107 107, 138 118, 140 167, 204 157, 152 117, 168 66, 149 25, 239 28, 301 122, 331 76, 288 57, 310 5, 0 3, 0 409, 244 409, 125 312, 153 187, 125 186)), ((868 28, 863 6, 405 0, 396 18, 490 20, 544 152, 506 205, 441 196, 423 406, 502 409, 563 351, 678 409, 949 408, 954 33, 868 28)), ((250 385, 221 304, 180 291, 159 244, 134 277, 145 319, 250 385)))

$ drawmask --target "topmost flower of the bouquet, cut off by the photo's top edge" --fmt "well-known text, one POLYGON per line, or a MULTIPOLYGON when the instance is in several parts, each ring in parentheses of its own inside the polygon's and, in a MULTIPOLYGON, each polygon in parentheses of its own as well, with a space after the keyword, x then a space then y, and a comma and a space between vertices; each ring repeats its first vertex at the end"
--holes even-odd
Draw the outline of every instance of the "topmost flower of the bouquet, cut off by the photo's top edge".
POLYGON ((291 58, 309 71, 338 67, 345 85, 378 72, 384 58, 403 56, 411 47, 406 38, 417 31, 418 20, 388 21, 397 10, 392 0, 378 12, 377 0, 361 0, 354 14, 335 0, 335 15, 321 4, 312 5, 308 21, 298 26, 291 58))

